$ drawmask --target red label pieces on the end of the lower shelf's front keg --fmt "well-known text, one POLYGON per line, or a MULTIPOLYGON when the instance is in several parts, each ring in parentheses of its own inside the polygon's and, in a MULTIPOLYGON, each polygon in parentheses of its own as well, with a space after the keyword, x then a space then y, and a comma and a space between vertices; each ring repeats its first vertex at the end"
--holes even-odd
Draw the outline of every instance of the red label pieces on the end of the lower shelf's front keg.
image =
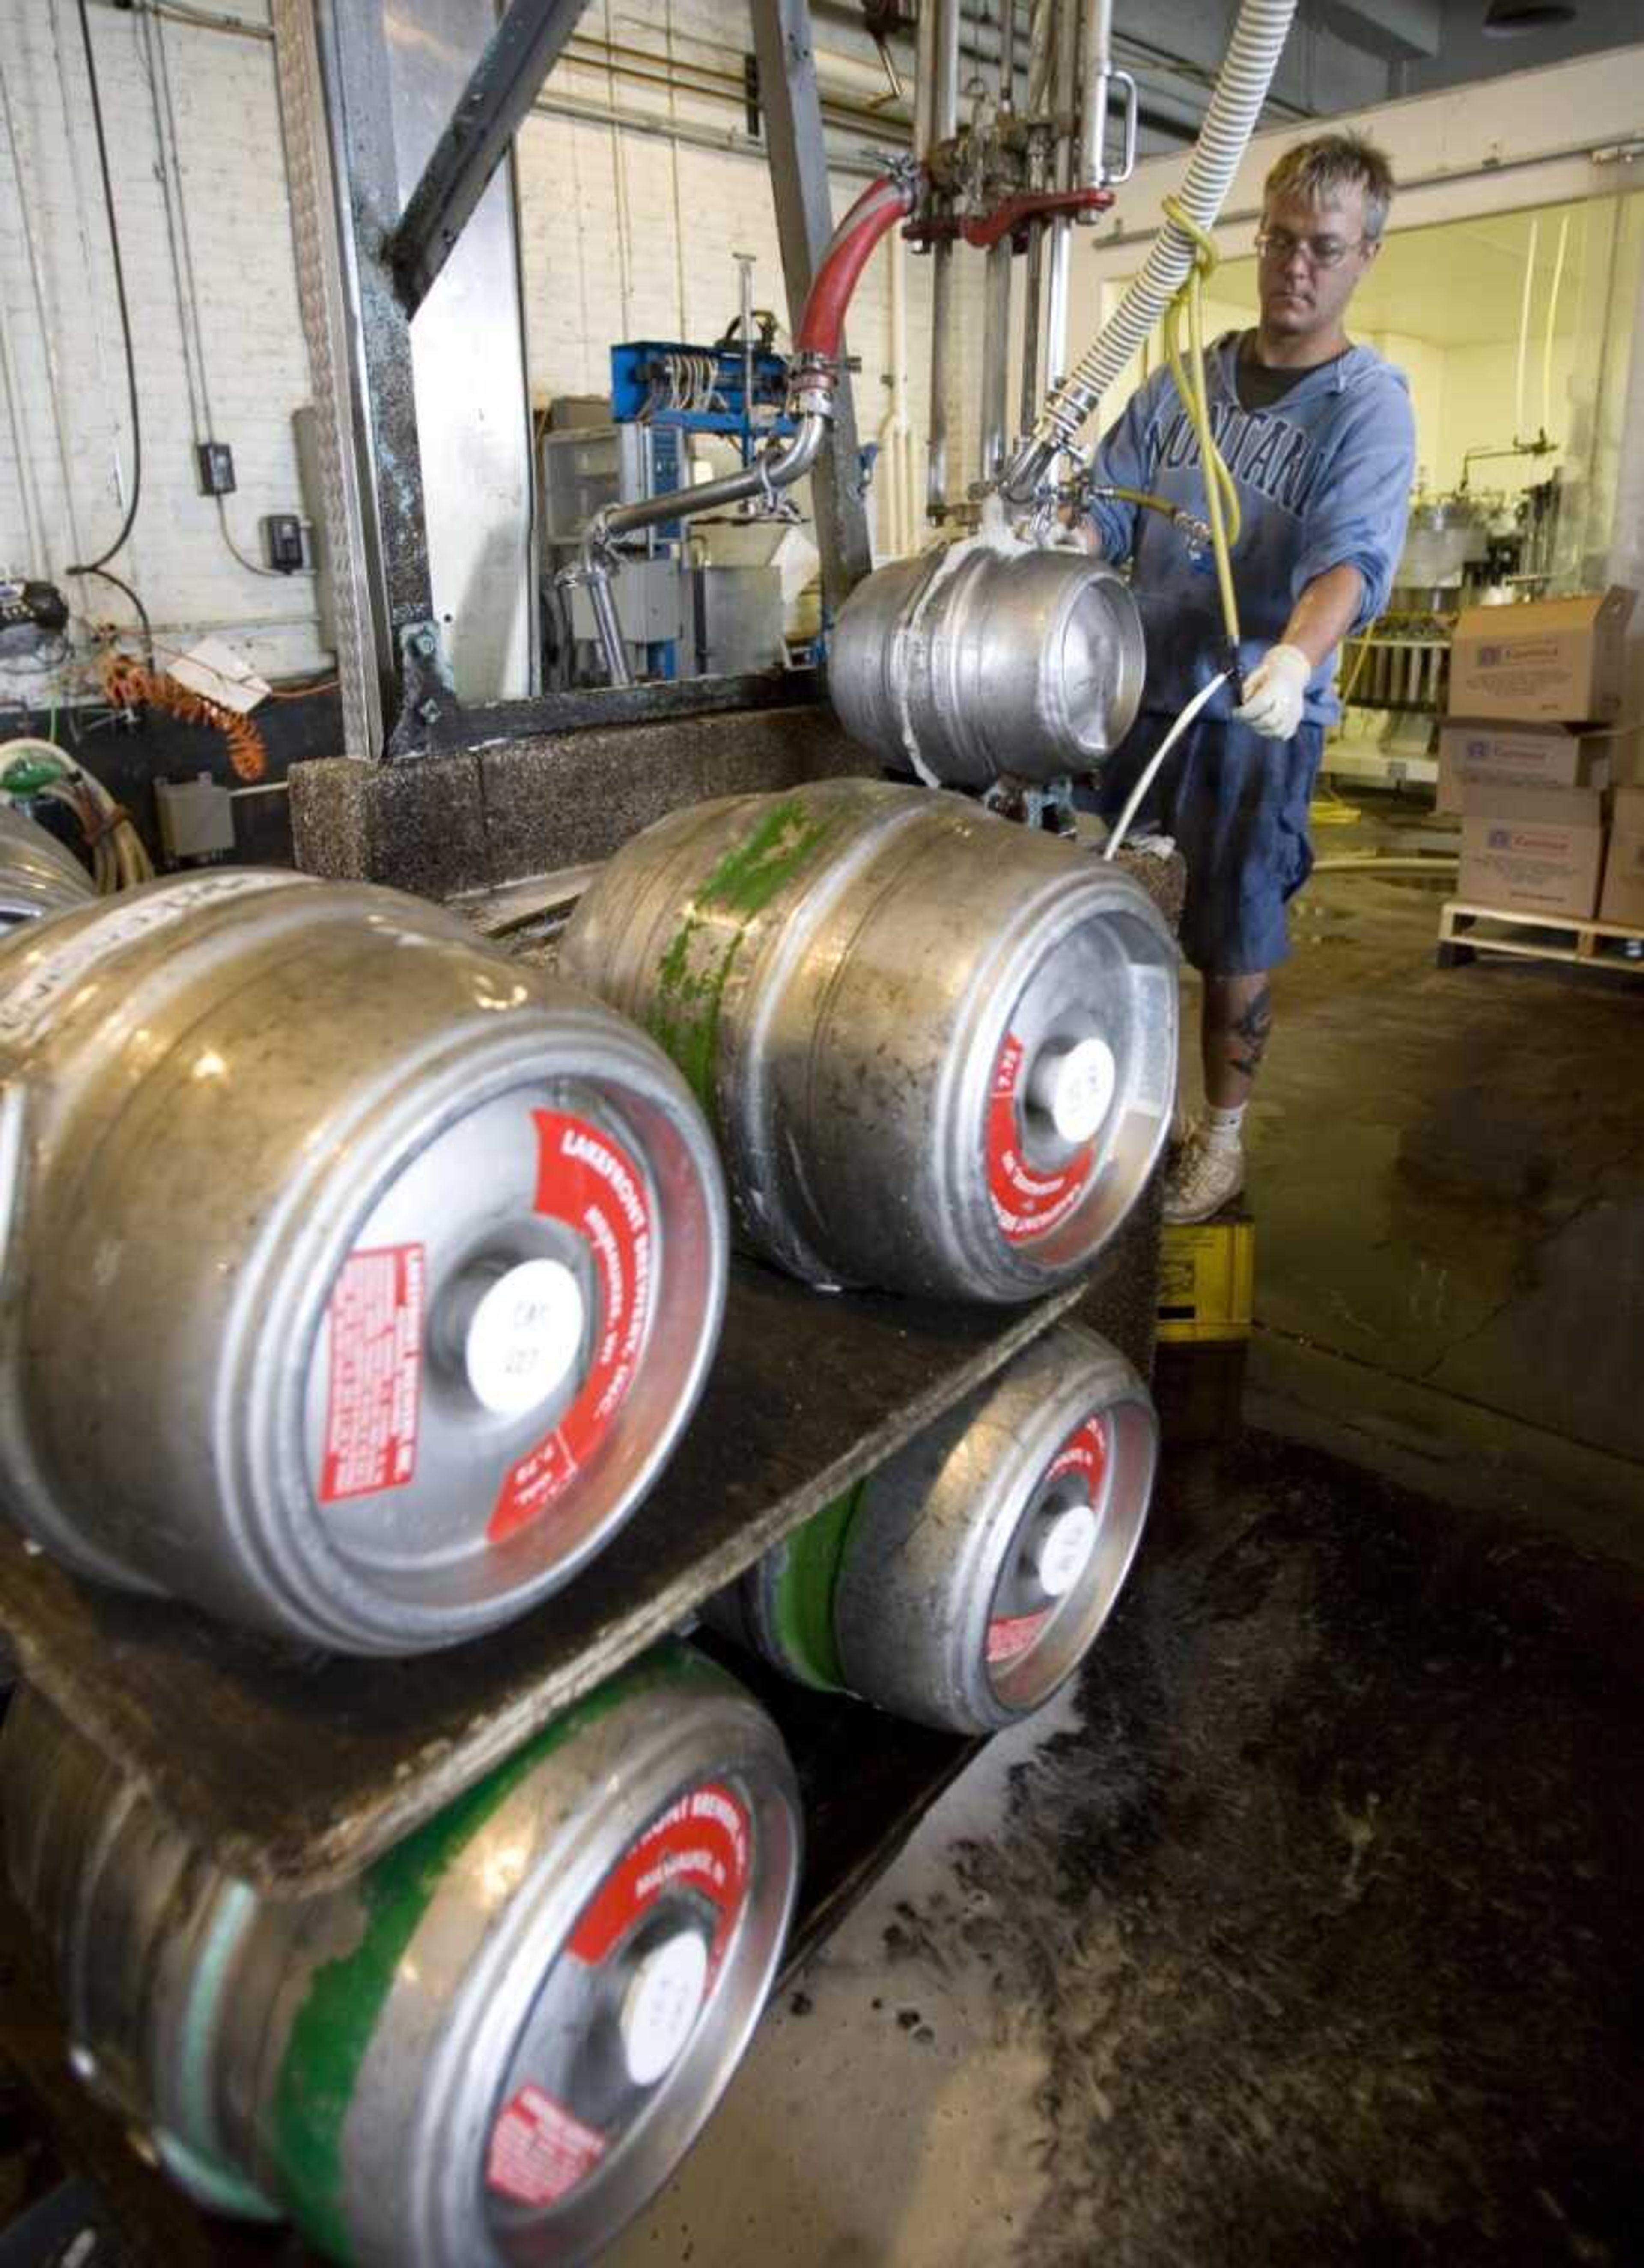
MULTIPOLYGON (((712 1982, 748 1894, 751 1864, 746 1805, 717 1783, 694 1787, 612 1867, 583 1907, 567 1950, 599 1969, 658 1898, 694 1889, 719 1916, 707 1955, 712 1982)), ((599 2166, 612 2141, 612 2134, 601 2134, 553 2096, 526 2084, 492 2127, 485 2182, 515 2204, 558 2204, 599 2166)))

